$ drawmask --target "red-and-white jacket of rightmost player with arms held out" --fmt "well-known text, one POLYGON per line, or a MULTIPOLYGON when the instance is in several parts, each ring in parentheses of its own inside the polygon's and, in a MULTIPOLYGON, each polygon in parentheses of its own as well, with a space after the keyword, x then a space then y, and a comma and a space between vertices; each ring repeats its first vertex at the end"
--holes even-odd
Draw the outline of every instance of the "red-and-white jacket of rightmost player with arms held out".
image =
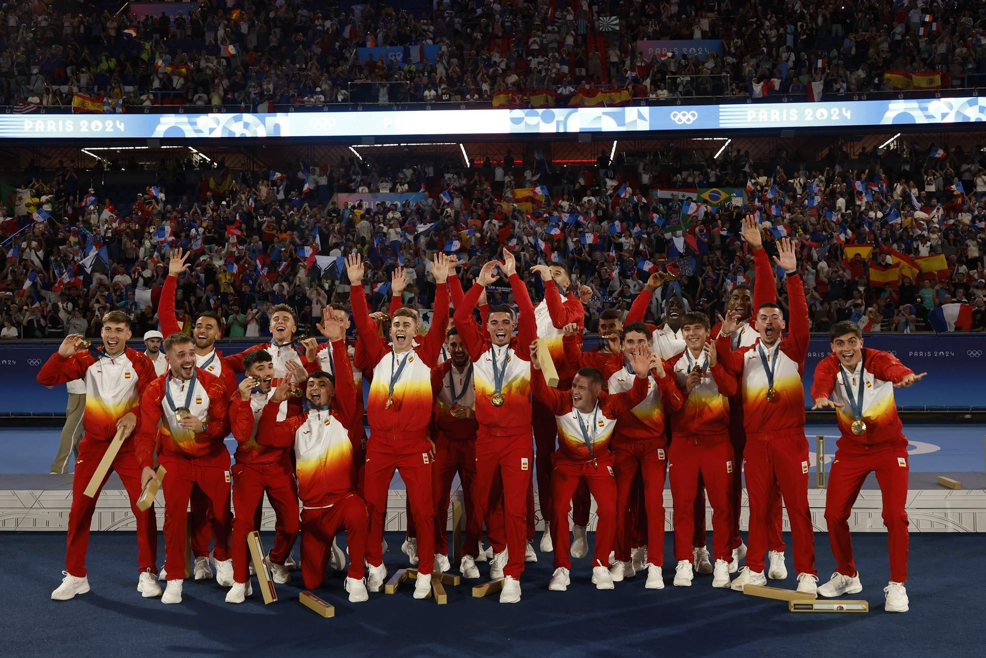
POLYGON ((859 399, 859 377, 863 377, 863 421, 866 431, 863 434, 853 434, 851 426, 856 419, 852 405, 846 395, 846 387, 842 380, 839 360, 835 354, 823 358, 814 369, 814 380, 811 382, 811 400, 828 398, 842 402, 842 407, 836 410, 839 422, 839 447, 872 448, 886 446, 907 449, 907 438, 904 436, 900 416, 897 415, 897 404, 893 399, 893 385, 914 372, 897 360, 889 352, 879 349, 863 348, 863 361, 853 372, 848 372, 850 395, 859 399))

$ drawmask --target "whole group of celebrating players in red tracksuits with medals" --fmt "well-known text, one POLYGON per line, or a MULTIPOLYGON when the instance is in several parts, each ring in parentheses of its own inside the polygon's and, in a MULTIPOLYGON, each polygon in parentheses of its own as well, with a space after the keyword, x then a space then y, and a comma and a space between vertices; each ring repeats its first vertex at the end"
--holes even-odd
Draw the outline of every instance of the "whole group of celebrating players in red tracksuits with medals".
MULTIPOLYGON (((48 387, 82 379, 87 394, 64 579, 51 598, 90 590, 86 551, 97 497, 83 490, 121 430, 127 438, 111 471, 136 518, 137 590, 168 604, 181 601, 186 567, 196 580, 215 577, 228 587, 229 603, 250 596, 246 540, 259 528, 264 494, 276 517, 265 557, 274 581, 287 582, 300 569, 305 587, 315 589, 331 565, 346 571, 349 601, 367 601, 387 578, 384 530, 395 471, 409 512, 401 548, 421 576, 454 566, 447 523, 458 474, 466 515, 458 569, 464 578, 479 578, 477 562, 488 560, 490 578, 503 579, 501 603, 521 600, 525 562, 537 559, 535 470, 544 521, 539 548, 554 553, 551 591, 565 591, 571 558, 589 553, 590 495, 597 514, 592 582, 613 589, 643 572, 647 589, 663 589, 667 477, 674 586, 692 585, 695 574, 711 574, 712 587, 740 591, 786 578, 783 504, 798 591, 854 594, 862 584, 847 521, 866 476, 876 473, 890 563, 885 610, 905 612, 908 458, 893 389, 924 375, 864 347, 852 323, 829 332, 832 351, 815 370, 811 398, 814 408, 835 409, 841 434, 825 506, 837 566, 828 582, 817 585, 805 436, 804 286, 795 248, 781 240, 773 261, 787 279, 786 323, 776 303, 774 266, 752 217, 744 221, 743 237, 756 263, 754 288, 733 288, 726 317, 715 327, 704 314, 685 312, 659 273, 625 319, 613 310, 602 314, 601 342, 585 351, 580 294, 591 291, 573 290, 563 265, 535 265, 531 270, 545 285, 544 299, 534 306, 505 250, 502 260, 481 268, 468 291, 460 287, 456 257, 434 256, 436 294, 427 332, 419 330, 419 310, 403 306, 399 295, 391 298, 388 315, 370 313, 364 265, 351 255, 345 263, 350 306, 332 303, 324 310, 317 325, 324 342, 297 336, 294 312, 278 306, 269 342, 223 355, 214 344, 221 336, 218 316, 201 314, 191 336, 179 330, 176 277, 188 267, 188 255, 176 252, 159 306, 167 361, 127 347, 130 319, 112 311, 104 318, 102 346, 69 335, 38 372, 38 382, 48 387), (486 304, 485 288, 501 276, 517 309, 486 304), (643 322, 655 295, 664 310, 660 327, 643 322), (347 341, 350 321, 357 338, 347 341), (538 340, 557 372, 555 386, 542 374, 545 352, 538 340), (369 436, 364 377, 371 383, 369 436), (232 461, 224 443, 231 432, 237 442, 232 461), (157 478, 157 466, 167 471, 160 572, 154 506, 141 511, 136 505, 157 478), (746 544, 740 538, 741 471, 749 506, 746 544), (348 566, 335 542, 343 532, 348 566), (484 534, 490 549, 483 548, 484 534), (291 551, 299 535, 296 564, 291 551), (164 591, 159 579, 167 583, 164 591)), ((398 291, 402 280, 398 268, 398 291)), ((430 580, 415 580, 415 598, 429 596, 430 580)))

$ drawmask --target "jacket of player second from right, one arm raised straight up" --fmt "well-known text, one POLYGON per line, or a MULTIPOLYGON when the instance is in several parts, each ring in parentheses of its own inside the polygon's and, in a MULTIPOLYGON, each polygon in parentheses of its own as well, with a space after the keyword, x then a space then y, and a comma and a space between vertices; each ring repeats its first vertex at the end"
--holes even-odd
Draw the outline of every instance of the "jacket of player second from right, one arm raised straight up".
POLYGON ((751 441, 766 440, 805 431, 805 387, 802 377, 808 354, 808 302, 798 273, 788 277, 790 301, 789 334, 775 342, 767 352, 768 363, 774 363, 774 352, 780 350, 774 368, 775 402, 767 402, 767 374, 760 361, 757 347, 760 339, 748 347, 734 350, 731 336, 716 340, 718 360, 727 371, 741 377, 743 428, 751 441))

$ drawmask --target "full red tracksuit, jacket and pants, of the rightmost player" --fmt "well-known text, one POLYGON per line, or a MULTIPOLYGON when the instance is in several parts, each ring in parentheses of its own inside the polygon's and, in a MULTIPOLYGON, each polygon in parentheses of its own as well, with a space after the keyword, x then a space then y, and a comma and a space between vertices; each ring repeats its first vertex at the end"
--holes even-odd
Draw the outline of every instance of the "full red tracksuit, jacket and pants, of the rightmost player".
POLYGON ((835 570, 845 576, 856 575, 853 545, 849 535, 849 515, 859 496, 866 476, 876 472, 883 498, 883 525, 890 552, 890 580, 907 580, 907 437, 893 399, 893 385, 914 374, 897 357, 877 349, 863 348, 863 362, 849 377, 850 395, 858 400, 859 377, 863 378, 863 420, 866 431, 856 435, 851 425, 853 415, 838 358, 829 354, 814 370, 811 399, 827 398, 842 402, 837 410, 838 449, 825 492, 825 522, 828 541, 835 555, 835 570))

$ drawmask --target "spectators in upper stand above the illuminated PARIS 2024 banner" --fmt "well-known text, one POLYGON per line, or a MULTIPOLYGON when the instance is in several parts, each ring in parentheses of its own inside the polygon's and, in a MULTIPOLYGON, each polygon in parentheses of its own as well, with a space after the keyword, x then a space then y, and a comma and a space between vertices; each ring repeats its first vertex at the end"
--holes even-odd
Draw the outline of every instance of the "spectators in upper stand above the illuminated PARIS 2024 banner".
POLYGON ((138 18, 99 1, 84 12, 76 2, 7 3, 0 105, 111 112, 350 102, 620 105, 778 94, 817 100, 972 87, 975 74, 986 74, 986 9, 961 3, 397 4, 201 0, 177 11, 161 3, 160 15, 138 18), (638 47, 657 39, 683 45, 676 53, 674 46, 638 47))

